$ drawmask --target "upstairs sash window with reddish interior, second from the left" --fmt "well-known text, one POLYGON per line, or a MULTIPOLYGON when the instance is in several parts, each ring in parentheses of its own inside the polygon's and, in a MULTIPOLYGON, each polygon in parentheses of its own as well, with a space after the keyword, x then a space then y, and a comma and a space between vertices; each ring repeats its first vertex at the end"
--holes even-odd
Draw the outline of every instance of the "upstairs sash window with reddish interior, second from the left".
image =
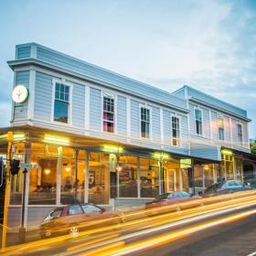
POLYGON ((113 133, 114 127, 114 98, 103 96, 103 131, 113 133))

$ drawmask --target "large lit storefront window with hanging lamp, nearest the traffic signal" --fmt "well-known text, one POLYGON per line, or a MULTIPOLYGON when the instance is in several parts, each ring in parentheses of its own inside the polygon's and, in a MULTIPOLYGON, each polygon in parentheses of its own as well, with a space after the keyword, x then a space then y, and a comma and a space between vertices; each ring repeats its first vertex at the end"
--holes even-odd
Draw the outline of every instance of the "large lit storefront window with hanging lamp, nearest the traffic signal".
POLYGON ((29 205, 55 205, 57 193, 58 156, 42 154, 44 144, 31 144, 29 170, 29 205))

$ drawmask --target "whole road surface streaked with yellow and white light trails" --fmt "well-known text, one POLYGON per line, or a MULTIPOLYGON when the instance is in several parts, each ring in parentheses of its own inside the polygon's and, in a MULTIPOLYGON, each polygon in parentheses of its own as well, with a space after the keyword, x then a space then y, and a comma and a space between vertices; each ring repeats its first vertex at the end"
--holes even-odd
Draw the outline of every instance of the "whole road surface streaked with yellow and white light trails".
POLYGON ((248 255, 256 251, 256 192, 199 201, 121 225, 14 246, 1 255, 248 255), (222 198, 222 199, 221 199, 222 198), (203 202, 203 203, 202 203, 203 202), (210 203, 209 203, 210 202, 210 203), (186 207, 185 207, 186 206, 186 207))

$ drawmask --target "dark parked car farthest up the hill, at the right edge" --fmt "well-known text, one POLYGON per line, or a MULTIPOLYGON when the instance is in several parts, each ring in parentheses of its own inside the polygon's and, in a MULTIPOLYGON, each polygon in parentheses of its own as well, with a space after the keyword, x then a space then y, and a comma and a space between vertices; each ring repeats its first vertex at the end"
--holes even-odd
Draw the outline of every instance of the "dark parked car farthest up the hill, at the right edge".
POLYGON ((202 196, 213 197, 251 189, 252 187, 242 184, 238 180, 226 180, 212 184, 203 192, 202 196))

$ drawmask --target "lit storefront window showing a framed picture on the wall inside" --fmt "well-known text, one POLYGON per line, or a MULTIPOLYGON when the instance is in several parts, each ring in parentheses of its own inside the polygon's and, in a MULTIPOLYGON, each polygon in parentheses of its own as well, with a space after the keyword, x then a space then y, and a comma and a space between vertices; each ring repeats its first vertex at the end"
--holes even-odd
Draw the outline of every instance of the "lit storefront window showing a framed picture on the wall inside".
POLYGON ((89 156, 89 202, 107 205, 110 197, 109 154, 90 153, 89 156))

